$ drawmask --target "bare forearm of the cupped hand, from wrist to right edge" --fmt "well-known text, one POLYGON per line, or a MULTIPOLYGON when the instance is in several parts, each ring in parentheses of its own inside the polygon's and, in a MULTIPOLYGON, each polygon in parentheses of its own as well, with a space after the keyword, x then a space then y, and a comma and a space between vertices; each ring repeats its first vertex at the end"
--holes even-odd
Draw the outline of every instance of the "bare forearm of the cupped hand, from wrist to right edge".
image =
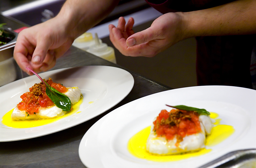
POLYGON ((256 1, 238 0, 204 10, 179 13, 183 38, 256 33, 256 1))

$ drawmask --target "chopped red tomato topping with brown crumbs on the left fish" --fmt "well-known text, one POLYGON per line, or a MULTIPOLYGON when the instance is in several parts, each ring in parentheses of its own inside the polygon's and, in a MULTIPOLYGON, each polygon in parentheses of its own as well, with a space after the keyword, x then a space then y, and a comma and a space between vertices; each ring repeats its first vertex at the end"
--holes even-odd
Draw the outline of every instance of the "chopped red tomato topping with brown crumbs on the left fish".
MULTIPOLYGON (((52 79, 45 80, 51 87, 55 88, 61 93, 67 92, 67 88, 62 86, 60 83, 52 82, 52 79)), ((44 83, 36 83, 34 86, 29 88, 29 92, 24 93, 20 96, 22 101, 17 104, 20 111, 26 111, 28 115, 38 113, 39 109, 42 107, 53 106, 54 103, 46 95, 46 86, 44 83)))

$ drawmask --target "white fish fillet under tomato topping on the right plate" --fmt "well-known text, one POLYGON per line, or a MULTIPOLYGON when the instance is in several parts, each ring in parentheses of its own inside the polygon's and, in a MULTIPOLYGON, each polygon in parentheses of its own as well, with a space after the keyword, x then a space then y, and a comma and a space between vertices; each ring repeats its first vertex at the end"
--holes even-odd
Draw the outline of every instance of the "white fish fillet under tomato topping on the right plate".
POLYGON ((157 137, 154 132, 154 125, 151 126, 151 132, 146 142, 146 150, 154 154, 171 154, 198 150, 205 147, 206 134, 211 133, 213 124, 211 118, 206 115, 199 116, 201 132, 185 136, 178 147, 175 145, 177 138, 166 140, 165 137, 157 137))

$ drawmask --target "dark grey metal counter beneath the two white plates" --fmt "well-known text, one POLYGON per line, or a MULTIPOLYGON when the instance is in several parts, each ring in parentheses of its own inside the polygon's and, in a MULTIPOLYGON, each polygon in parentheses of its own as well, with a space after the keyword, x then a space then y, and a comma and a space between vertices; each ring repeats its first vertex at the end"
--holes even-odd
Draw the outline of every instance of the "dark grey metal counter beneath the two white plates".
MULTIPOLYGON (((71 47, 62 58, 57 60, 53 69, 85 65, 106 65, 122 68, 112 62, 71 47)), ((80 125, 50 135, 21 141, 0 142, 0 167, 85 167, 79 159, 79 143, 86 131, 97 120, 135 99, 172 89, 134 72, 129 72, 134 77, 132 91, 120 103, 105 113, 80 125)))

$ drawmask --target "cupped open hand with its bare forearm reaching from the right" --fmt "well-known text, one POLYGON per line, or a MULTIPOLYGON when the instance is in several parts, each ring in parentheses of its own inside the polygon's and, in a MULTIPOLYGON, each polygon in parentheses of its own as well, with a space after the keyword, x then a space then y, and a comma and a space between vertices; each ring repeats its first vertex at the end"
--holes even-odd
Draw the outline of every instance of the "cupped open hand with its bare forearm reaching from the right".
POLYGON ((196 36, 244 35, 256 33, 256 1, 238 0, 221 6, 192 12, 166 13, 146 30, 126 37, 120 18, 117 27, 109 26, 114 46, 127 56, 153 57, 180 40, 196 36))

